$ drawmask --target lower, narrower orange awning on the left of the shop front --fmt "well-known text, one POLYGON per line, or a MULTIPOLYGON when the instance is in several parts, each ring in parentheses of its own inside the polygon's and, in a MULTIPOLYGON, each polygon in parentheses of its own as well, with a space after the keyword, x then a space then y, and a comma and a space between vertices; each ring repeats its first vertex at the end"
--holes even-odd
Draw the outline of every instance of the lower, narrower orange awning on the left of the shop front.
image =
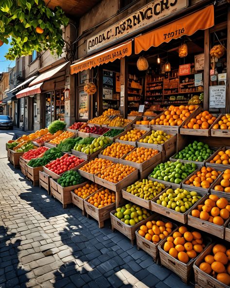
POLYGON ((116 59, 121 59, 125 56, 132 54, 132 41, 123 43, 117 47, 113 47, 109 50, 103 51, 99 54, 95 54, 82 61, 71 65, 71 74, 78 73, 92 67, 96 67, 108 62, 113 62, 116 59))

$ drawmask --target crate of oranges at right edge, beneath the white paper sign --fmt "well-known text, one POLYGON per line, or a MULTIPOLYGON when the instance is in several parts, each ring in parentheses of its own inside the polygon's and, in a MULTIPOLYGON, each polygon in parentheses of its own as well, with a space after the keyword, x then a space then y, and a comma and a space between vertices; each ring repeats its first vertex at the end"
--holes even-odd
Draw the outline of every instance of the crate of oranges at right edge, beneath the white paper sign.
POLYGON ((211 136, 230 137, 230 114, 220 114, 211 126, 211 136))

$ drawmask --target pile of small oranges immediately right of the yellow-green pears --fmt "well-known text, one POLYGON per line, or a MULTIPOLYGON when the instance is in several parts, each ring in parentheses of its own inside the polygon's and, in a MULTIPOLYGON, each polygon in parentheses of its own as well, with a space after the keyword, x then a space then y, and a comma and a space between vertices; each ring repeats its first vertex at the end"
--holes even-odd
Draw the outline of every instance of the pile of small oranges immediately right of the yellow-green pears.
POLYGON ((127 144, 121 144, 121 143, 113 143, 112 145, 106 147, 106 149, 103 150, 103 155, 110 156, 114 158, 122 158, 124 155, 131 152, 135 147, 132 145, 127 144))

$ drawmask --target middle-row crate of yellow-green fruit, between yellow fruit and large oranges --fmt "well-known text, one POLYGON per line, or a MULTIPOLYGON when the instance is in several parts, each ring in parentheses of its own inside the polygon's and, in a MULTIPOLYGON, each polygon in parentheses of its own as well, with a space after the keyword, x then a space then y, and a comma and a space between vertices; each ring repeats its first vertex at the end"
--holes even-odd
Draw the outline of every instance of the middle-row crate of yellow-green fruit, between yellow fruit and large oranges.
POLYGON ((151 202, 151 210, 186 224, 190 210, 205 195, 207 194, 204 192, 192 189, 169 188, 151 202))

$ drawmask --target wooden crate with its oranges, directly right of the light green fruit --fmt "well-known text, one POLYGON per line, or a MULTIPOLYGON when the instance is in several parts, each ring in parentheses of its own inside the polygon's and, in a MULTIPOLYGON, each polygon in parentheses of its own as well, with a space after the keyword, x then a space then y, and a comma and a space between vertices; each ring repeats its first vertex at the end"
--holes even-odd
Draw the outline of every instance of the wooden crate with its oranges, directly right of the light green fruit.
POLYGON ((188 178, 182 181, 182 187, 191 189, 195 187, 196 191, 208 193, 212 183, 219 177, 221 171, 212 167, 201 167, 192 173, 188 178))

